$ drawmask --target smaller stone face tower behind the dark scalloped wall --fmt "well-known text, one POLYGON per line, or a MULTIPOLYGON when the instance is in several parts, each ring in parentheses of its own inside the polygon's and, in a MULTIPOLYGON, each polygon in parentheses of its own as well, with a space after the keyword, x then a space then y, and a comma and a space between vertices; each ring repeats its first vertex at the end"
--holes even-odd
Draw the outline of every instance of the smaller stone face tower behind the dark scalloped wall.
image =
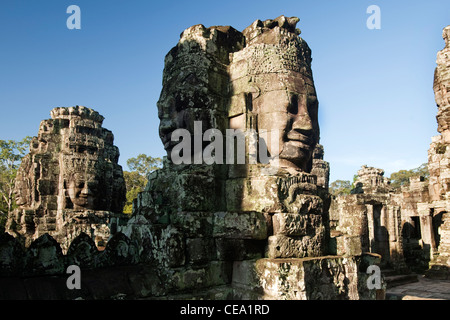
POLYGON ((44 233, 63 250, 81 232, 99 247, 107 241, 126 191, 119 150, 103 119, 76 106, 54 108, 41 122, 17 174, 19 208, 7 222, 7 231, 25 245, 44 233))

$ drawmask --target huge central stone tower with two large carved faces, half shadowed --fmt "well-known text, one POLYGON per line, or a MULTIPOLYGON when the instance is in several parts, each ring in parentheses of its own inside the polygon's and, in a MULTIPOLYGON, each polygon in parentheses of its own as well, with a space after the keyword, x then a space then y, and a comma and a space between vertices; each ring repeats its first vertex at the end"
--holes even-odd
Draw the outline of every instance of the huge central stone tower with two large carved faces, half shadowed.
POLYGON ((298 21, 256 20, 243 32, 195 25, 166 55, 167 157, 122 229, 140 239, 166 295, 361 297, 364 259, 326 256, 329 165, 298 21))

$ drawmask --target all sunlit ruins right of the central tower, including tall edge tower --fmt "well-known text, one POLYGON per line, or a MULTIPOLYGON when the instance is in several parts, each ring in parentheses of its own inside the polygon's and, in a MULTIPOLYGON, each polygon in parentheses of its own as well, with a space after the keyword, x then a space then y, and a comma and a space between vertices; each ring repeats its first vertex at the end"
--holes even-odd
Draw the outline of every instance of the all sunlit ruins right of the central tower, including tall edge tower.
POLYGON ((449 279, 450 26, 443 38, 433 86, 440 135, 428 151, 429 179, 411 178, 409 186, 394 192, 383 170, 363 166, 352 194, 332 201, 330 219, 338 254, 374 252, 384 268, 449 279))

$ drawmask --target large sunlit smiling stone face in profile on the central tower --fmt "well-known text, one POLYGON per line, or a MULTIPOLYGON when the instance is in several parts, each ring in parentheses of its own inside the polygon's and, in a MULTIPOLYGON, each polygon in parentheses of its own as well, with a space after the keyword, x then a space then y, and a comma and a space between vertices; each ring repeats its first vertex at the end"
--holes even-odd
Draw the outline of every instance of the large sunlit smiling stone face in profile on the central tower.
MULTIPOLYGON (((279 149, 268 143, 272 156, 279 155, 282 166, 305 171, 318 142, 318 102, 314 87, 300 73, 290 75, 290 89, 268 91, 254 100, 258 130, 278 131, 279 149)), ((270 139, 269 139, 270 140, 270 139)))

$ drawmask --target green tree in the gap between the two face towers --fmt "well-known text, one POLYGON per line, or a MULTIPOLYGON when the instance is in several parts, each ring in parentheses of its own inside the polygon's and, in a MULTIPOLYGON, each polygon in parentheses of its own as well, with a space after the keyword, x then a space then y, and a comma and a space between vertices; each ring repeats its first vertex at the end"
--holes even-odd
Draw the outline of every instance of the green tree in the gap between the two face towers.
POLYGON ((161 158, 153 158, 145 154, 140 154, 127 160, 127 166, 131 171, 123 172, 127 188, 127 201, 123 209, 124 213, 131 213, 133 200, 136 199, 139 192, 144 190, 148 182, 148 175, 161 168, 161 164, 161 158))

